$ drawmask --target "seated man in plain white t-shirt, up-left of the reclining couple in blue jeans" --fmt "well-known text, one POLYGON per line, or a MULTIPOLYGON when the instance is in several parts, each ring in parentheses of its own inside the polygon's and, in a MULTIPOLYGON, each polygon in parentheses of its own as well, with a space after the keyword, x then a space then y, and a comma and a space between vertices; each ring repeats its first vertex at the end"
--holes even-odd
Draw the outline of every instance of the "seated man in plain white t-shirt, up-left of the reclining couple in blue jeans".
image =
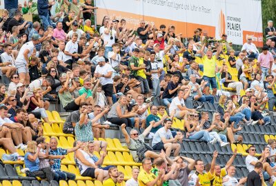
POLYGON ((183 118, 185 114, 188 114, 188 112, 195 112, 194 109, 188 109, 185 106, 184 94, 185 93, 183 89, 177 90, 177 96, 172 99, 172 103, 170 103, 170 107, 168 109, 170 114, 175 112, 174 116, 180 119, 183 118))

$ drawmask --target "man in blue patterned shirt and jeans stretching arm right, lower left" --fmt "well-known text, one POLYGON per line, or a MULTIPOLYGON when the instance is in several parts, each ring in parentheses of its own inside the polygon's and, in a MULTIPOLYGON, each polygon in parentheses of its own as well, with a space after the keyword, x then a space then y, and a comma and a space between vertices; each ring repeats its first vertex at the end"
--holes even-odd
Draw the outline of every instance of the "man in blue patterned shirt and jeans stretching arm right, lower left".
MULTIPOLYGON (((79 149, 80 146, 81 145, 75 145, 72 148, 63 149, 61 147, 57 147, 57 138, 52 137, 52 138, 50 138, 49 155, 64 156, 66 154, 69 154, 70 152, 77 151, 77 149, 79 149)), ((61 159, 60 158, 53 159, 53 161, 54 161, 54 163, 51 165, 51 169, 56 174, 59 174, 59 178, 61 180, 75 180, 75 178, 76 178, 75 174, 72 174, 70 172, 61 171, 61 159)))

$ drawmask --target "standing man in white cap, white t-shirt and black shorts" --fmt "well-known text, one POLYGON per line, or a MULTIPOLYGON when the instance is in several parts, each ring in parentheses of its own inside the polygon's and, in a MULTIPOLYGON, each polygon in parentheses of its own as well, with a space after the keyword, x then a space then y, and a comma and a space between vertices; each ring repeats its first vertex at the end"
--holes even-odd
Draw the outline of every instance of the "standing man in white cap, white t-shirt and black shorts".
POLYGON ((104 95, 108 99, 108 104, 112 105, 112 94, 113 94, 113 80, 112 80, 112 72, 113 69, 110 64, 106 63, 106 59, 103 56, 97 59, 98 65, 96 66, 96 70, 94 76, 99 78, 101 82, 101 89, 104 91, 104 95))

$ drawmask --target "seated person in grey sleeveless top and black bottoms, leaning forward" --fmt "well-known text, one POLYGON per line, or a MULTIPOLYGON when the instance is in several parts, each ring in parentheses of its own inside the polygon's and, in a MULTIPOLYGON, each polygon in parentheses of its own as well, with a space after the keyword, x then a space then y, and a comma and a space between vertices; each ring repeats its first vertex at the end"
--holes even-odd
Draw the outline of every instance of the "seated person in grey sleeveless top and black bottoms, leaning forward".
POLYGON ((111 106, 108 112, 107 120, 116 125, 126 124, 132 127, 131 117, 137 116, 136 112, 128 112, 126 109, 126 96, 121 95, 119 100, 111 106))

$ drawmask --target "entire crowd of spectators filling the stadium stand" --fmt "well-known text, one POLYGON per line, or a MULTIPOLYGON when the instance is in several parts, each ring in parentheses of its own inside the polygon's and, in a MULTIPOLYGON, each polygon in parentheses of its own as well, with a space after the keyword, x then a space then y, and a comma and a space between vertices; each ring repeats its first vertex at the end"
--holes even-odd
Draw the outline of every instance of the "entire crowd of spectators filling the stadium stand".
POLYGON ((227 35, 208 36, 197 28, 183 42, 174 25, 144 20, 129 28, 126 20, 103 17, 99 31, 91 23, 97 11, 91 0, 39 0, 40 21, 28 22, 32 1, 4 1, 0 19, 0 144, 3 161, 24 161, 27 176, 75 180, 61 170, 61 160, 74 152, 81 176, 107 185, 123 185, 124 173, 104 167, 106 130, 120 126, 130 154, 142 168, 132 169, 126 186, 134 185, 266 185, 274 183, 276 142, 262 154, 248 147, 248 176, 237 180, 233 161, 225 167, 180 154, 186 139, 221 147, 241 144, 245 125, 270 125, 276 105, 275 28, 268 21, 266 43, 256 48, 252 37, 241 51, 227 35), (260 52, 259 52, 260 50, 260 52), (216 102, 216 98, 217 102, 216 102), (75 135, 74 147, 46 143, 43 123, 52 125, 50 103, 59 102, 69 116, 64 134, 75 135), (205 104, 216 105, 209 116, 205 104), (175 119, 186 131, 172 128, 175 119), (138 130, 143 131, 139 134, 138 130), (150 145, 145 138, 150 138, 150 145), (17 149, 26 152, 19 156, 17 149), (94 155, 98 152, 100 157, 94 155), (154 168, 152 168, 154 165, 154 168))

